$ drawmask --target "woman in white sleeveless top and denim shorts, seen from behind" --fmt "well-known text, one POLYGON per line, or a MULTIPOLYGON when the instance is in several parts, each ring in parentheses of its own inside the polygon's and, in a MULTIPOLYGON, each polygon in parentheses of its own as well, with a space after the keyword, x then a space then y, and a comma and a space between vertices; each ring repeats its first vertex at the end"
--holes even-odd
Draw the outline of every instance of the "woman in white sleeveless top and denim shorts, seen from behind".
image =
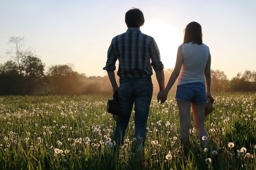
POLYGON ((209 47, 202 43, 202 27, 191 22, 184 30, 184 42, 177 51, 175 68, 164 91, 157 96, 164 102, 178 77, 175 98, 180 114, 180 138, 182 145, 189 144, 190 108, 194 124, 203 148, 208 147, 207 132, 204 128, 205 106, 211 99, 211 54, 209 47), (206 87, 205 87, 206 85, 206 87), (203 139, 202 139, 203 137, 203 139))

